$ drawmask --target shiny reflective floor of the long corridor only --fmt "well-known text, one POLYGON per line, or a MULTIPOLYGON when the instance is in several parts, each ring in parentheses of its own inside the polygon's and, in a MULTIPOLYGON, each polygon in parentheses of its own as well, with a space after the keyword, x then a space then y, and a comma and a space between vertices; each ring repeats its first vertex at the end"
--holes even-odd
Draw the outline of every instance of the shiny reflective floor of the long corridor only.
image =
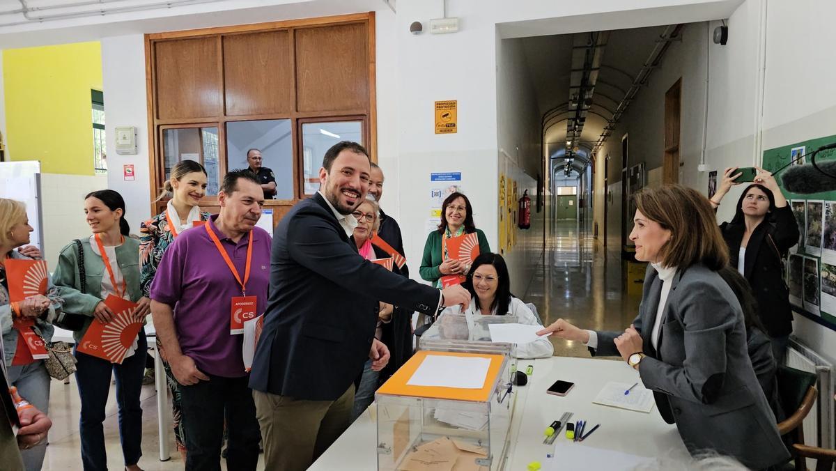
MULTIPOLYGON (((543 263, 523 296, 545 325, 563 318, 582 329, 624 330, 635 319, 641 294, 626 293, 618 248, 558 220, 547 232, 543 263)), ((579 342, 552 339, 554 355, 588 357, 579 342)))

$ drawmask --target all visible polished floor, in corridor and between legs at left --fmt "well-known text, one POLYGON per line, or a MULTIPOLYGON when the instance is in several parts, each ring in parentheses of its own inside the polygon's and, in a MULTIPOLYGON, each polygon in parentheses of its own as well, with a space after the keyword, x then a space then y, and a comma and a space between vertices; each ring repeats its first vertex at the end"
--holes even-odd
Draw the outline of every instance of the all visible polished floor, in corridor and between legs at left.
MULTIPOLYGON (((552 224, 546 237, 544 263, 531 267, 531 283, 521 297, 537 306, 543 323, 563 318, 584 329, 622 330, 630 325, 639 306, 638 296, 628 296, 618 248, 604 249, 589 234, 579 230, 574 221, 552 224)), ((577 342, 552 339, 558 356, 589 356, 577 342)), ((81 469, 79 455, 79 393, 74 381, 52 382, 49 416, 54 425, 49 432, 49 446, 44 470, 81 469)), ((147 470, 184 468, 179 453, 171 459, 158 458, 156 392, 154 385, 143 387, 142 449, 140 467, 147 470)), ((124 466, 119 442, 115 392, 111 387, 104 421, 108 443, 108 467, 124 466)), ((171 448, 173 438, 171 439, 171 448)), ((226 469, 226 463, 222 463, 226 469)))

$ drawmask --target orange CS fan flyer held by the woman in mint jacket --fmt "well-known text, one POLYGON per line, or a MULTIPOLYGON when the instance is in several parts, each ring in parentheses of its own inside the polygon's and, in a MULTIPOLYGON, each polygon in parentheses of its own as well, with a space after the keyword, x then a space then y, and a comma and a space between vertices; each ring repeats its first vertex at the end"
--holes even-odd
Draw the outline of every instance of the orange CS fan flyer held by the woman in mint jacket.
POLYGON ((134 318, 136 304, 127 299, 110 294, 104 304, 115 313, 113 320, 107 324, 93 320, 79 342, 78 351, 121 364, 140 333, 142 322, 134 318))

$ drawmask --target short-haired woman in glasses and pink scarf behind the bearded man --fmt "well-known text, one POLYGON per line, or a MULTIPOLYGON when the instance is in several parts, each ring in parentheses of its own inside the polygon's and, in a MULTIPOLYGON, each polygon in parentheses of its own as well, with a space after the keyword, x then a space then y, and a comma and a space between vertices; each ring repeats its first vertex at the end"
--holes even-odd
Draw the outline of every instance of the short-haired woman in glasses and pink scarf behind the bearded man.
MULTIPOLYGON (((386 259, 390 255, 385 253, 382 248, 378 248, 371 243, 372 235, 380 228, 380 207, 375 201, 375 197, 371 195, 366 196, 366 200, 361 202, 357 209, 352 213, 357 219, 357 227, 354 228, 354 244, 357 246, 357 251, 360 256, 366 260, 386 259)), ((392 272, 401 274, 398 265, 392 264, 392 272)), ((385 325, 390 325, 393 314, 398 309, 396 306, 388 303, 379 303, 377 314, 377 329, 375 330, 375 338, 381 340, 383 338, 383 330, 385 325)), ((411 340, 411 337, 410 337, 411 340)), ((382 341, 382 340, 381 340, 382 341)), ((392 346, 387 345, 390 351, 392 346)), ((402 365, 406 360, 390 358, 389 364, 393 362, 400 362, 402 365)), ((400 367, 400 365, 398 365, 400 367)), ((354 392, 354 411, 352 412, 351 420, 359 417, 366 407, 369 407, 372 401, 375 400, 375 391, 380 384, 380 371, 375 371, 372 366, 372 361, 366 361, 363 368, 363 376, 360 378, 359 386, 354 392)))

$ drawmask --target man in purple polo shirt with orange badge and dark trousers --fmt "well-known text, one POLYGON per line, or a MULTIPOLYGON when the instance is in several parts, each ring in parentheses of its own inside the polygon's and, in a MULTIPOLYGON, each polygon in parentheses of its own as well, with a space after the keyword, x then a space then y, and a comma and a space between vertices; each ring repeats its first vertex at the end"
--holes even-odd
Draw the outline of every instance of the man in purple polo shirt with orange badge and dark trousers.
POLYGON ((255 227, 264 192, 252 172, 227 173, 218 202, 217 216, 181 233, 163 255, 151 315, 181 384, 186 469, 221 469, 226 418, 227 469, 254 470, 261 434, 243 335, 232 332, 242 310, 252 317, 267 307, 271 241, 255 227))

